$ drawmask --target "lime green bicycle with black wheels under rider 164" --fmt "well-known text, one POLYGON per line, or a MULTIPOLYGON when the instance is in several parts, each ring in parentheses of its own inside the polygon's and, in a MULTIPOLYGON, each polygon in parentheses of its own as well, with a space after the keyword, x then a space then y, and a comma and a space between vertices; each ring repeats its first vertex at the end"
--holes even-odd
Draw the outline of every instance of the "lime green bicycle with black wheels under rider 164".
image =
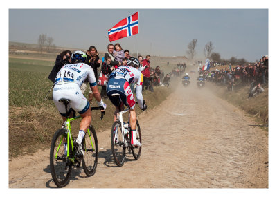
MULTIPOLYGON (((71 122, 81 118, 80 115, 69 118, 70 111, 67 110, 67 105, 70 100, 61 99, 66 108, 66 121, 64 128, 58 129, 53 135, 50 149, 50 169, 53 181, 57 187, 65 187, 69 183, 72 166, 80 168, 81 162, 84 173, 87 176, 93 176, 96 172, 98 162, 98 140, 96 131, 92 125, 87 129, 87 133, 82 140, 84 156, 76 149, 75 138, 71 132, 71 122)), ((104 110, 102 106, 91 107, 91 110, 104 110)), ((102 120, 105 111, 101 111, 100 120, 102 120)))

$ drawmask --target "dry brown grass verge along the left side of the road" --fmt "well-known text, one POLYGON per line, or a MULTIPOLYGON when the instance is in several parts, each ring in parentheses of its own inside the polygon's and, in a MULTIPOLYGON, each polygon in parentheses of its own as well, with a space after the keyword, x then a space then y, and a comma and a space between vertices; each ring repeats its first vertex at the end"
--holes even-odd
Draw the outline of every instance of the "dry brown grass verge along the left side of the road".
MULTIPOLYGON (((154 92, 143 91, 143 98, 148 104, 148 110, 161 104, 172 90, 166 87, 155 87, 154 92)), ((87 90, 88 93, 88 90, 87 90)), ((86 94, 87 94, 86 93, 86 94)), ((85 95, 86 95, 85 94, 85 95)), ((48 101, 51 95, 48 96, 48 101)), ((103 120, 99 120, 100 111, 93 111, 92 124, 96 132, 109 129, 113 122, 114 106, 109 100, 104 100, 107 104, 106 115, 103 120)), ((43 102, 41 102, 43 103, 43 102)), ((96 106, 94 100, 93 106, 96 106)), ((143 111, 136 106, 136 113, 143 111)), ((39 149, 50 148, 52 137, 62 125, 60 113, 55 108, 55 104, 39 104, 36 106, 9 106, 9 157, 22 156, 26 153, 33 153, 39 149)), ((73 136, 78 135, 80 120, 73 122, 73 136)))

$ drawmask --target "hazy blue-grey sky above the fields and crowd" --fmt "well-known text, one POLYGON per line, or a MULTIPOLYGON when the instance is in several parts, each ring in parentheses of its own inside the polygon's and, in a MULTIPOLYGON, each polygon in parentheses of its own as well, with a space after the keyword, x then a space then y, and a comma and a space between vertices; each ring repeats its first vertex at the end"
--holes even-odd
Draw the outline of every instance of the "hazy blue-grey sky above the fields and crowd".
POLYGON ((268 9, 12 9, 8 11, 9 41, 37 44, 40 34, 53 37, 56 46, 106 51, 107 30, 139 10, 139 35, 117 42, 141 55, 188 56, 197 39, 195 59, 204 58, 211 41, 224 59, 249 62, 268 55, 268 9))

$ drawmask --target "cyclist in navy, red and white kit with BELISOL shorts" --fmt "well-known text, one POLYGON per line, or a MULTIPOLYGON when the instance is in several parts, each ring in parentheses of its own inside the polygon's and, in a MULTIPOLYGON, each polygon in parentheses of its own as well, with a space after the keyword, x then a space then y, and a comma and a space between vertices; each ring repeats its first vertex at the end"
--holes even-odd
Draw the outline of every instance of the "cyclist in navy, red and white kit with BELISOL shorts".
POLYGON ((120 95, 120 100, 129 108, 132 135, 131 144, 138 147, 141 146, 141 143, 136 139, 136 111, 134 110, 136 101, 134 100, 134 95, 129 84, 136 84, 136 99, 139 107, 144 111, 147 109, 147 106, 143 100, 143 74, 138 70, 139 66, 140 64, 138 59, 134 57, 129 58, 127 66, 120 66, 109 75, 109 82, 107 84, 107 96, 109 97, 109 100, 111 100, 112 104, 116 106, 114 121, 116 121, 116 115, 119 108, 122 107, 118 106, 118 100, 116 100, 116 97, 112 96, 114 93, 118 93, 120 95))

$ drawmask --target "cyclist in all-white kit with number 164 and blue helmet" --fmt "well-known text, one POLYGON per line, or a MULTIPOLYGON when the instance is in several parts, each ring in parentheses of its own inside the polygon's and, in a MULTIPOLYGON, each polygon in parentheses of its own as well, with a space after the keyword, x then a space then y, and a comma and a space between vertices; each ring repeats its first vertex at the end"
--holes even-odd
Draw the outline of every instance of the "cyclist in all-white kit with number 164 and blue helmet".
POLYGON ((57 106, 57 110, 62 115, 62 120, 66 120, 66 111, 64 104, 59 102, 60 99, 70 100, 68 108, 74 109, 80 113, 82 120, 80 122, 80 131, 76 143, 80 152, 84 155, 82 150, 82 139, 84 138, 89 125, 91 124, 91 108, 87 98, 84 97, 80 86, 85 79, 89 80, 91 91, 93 96, 98 102, 98 106, 103 106, 106 109, 106 104, 102 101, 98 87, 96 84, 96 78, 91 66, 84 64, 87 60, 87 55, 82 51, 75 51, 71 55, 73 64, 66 64, 62 66, 60 71, 57 73, 55 79, 55 86, 53 88, 53 100, 57 106))

